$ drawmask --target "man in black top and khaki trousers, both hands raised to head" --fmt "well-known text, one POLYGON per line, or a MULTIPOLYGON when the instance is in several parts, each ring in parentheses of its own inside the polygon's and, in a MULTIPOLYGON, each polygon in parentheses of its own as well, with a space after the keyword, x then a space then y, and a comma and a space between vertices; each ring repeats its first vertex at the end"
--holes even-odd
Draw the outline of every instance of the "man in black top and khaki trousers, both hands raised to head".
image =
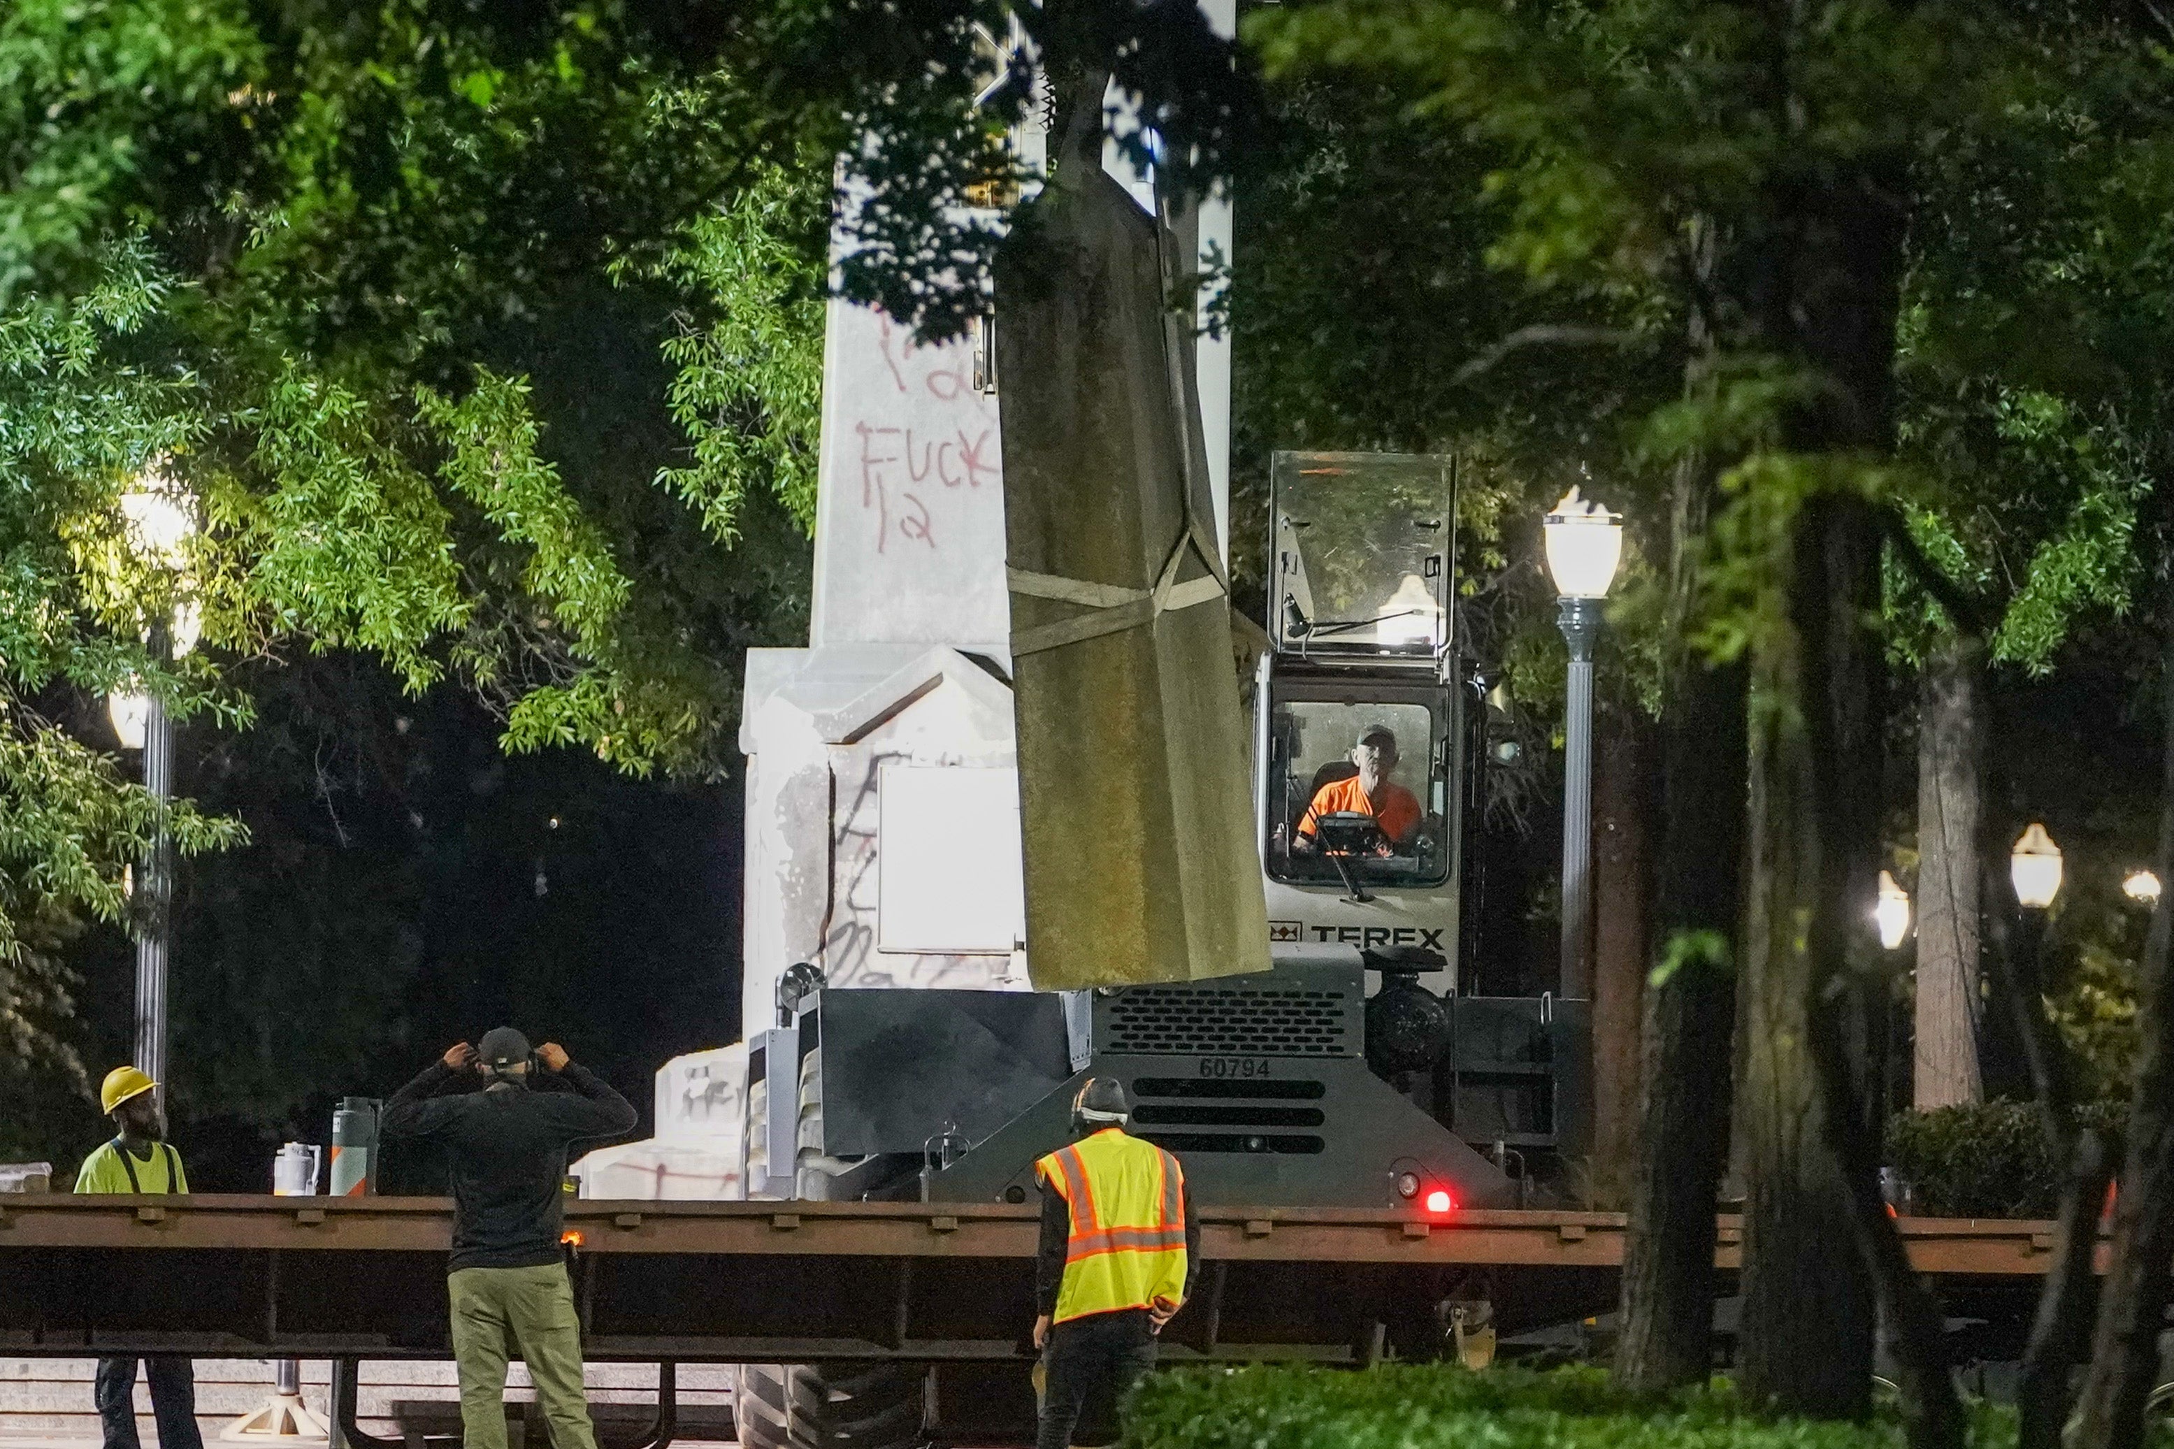
POLYGON ((509 1025, 474 1047, 454 1043, 385 1104, 380 1136, 441 1143, 452 1169, 446 1293, 465 1449, 507 1449, 511 1351, 528 1364, 550 1442, 596 1449, 580 1319, 559 1245, 565 1149, 633 1125, 626 1097, 570 1062, 565 1047, 544 1043, 530 1054, 528 1038, 509 1025), (483 1091, 443 1095, 478 1078, 483 1091))

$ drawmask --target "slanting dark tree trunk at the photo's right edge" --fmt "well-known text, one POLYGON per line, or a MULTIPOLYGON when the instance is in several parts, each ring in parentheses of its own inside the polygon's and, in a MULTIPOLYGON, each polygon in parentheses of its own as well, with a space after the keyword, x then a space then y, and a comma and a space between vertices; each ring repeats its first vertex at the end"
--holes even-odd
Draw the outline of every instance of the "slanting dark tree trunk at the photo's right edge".
MULTIPOLYGON (((2161 628, 2161 708, 2165 767, 2159 780, 2159 880, 2174 880, 2174 571, 2161 628)), ((2137 1449, 2144 1403, 2159 1375, 2159 1330, 2165 1321, 2167 1262, 2174 1258, 2174 891, 2152 908, 2144 943, 2137 1019, 2144 1047, 2128 1101, 2128 1149, 2122 1195, 2113 1208, 2113 1264, 2100 1286, 2091 1371, 2083 1382, 2070 1442, 2089 1449, 2137 1449)))

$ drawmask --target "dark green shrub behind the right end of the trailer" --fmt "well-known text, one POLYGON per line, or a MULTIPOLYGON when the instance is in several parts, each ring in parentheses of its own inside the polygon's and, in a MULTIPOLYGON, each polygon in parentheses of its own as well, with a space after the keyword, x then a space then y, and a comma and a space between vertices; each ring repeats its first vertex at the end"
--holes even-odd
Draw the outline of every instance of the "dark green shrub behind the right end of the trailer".
MULTIPOLYGON (((2124 1108, 2096 1104, 2087 1119, 2120 1136, 2124 1108)), ((2052 1217, 2063 1164, 2046 1151, 2039 1112, 2026 1101, 1985 1101, 1898 1112, 1887 1123, 1887 1162, 1915 1193, 1922 1217, 2052 1217)))

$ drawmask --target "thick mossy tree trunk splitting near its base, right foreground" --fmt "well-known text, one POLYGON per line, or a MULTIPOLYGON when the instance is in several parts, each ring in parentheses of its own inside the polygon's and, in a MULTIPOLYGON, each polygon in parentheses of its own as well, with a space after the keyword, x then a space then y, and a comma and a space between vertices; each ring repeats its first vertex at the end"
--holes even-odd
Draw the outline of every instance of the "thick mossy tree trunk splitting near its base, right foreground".
MULTIPOLYGON (((1894 345, 1909 174, 1900 154, 1785 180, 1757 317, 1817 378, 1783 417, 1798 456, 1894 448, 1894 345)), ((1939 1314, 1878 1190, 1885 978, 1878 875, 1881 532, 1850 489, 1800 504, 1785 619, 1754 654, 1752 884, 1744 1010, 1741 1386, 1813 1416, 1863 1416, 1874 1290, 1917 1449, 1963 1442, 1939 1314)))

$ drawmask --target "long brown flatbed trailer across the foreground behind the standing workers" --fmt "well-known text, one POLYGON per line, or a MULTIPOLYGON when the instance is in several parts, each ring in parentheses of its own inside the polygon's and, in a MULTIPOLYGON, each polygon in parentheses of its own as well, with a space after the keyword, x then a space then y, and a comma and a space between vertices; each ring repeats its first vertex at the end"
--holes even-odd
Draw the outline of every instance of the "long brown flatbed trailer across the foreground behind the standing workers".
MULTIPOLYGON (((1617 1212, 1200 1208, 1202 1273, 1163 1362, 1365 1366, 1439 1347, 1437 1306, 1489 1299, 1507 1334, 1613 1310, 1617 1212)), ((354 1449, 357 1362, 450 1358, 441 1197, 0 1199, 0 1356, 328 1358, 354 1449)), ((935 1442, 1009 1442, 1030 1421, 1039 1214, 1009 1204, 570 1201, 587 1353, 661 1364, 926 1364, 935 1442)), ((1944 1288, 2028 1312, 2054 1225, 1900 1219, 1944 1288)), ((1720 1219, 1735 1269, 1741 1223, 1720 1219)), ((437 1440, 433 1440, 435 1445, 437 1440)), ((454 1440, 446 1440, 448 1445, 454 1440)))

